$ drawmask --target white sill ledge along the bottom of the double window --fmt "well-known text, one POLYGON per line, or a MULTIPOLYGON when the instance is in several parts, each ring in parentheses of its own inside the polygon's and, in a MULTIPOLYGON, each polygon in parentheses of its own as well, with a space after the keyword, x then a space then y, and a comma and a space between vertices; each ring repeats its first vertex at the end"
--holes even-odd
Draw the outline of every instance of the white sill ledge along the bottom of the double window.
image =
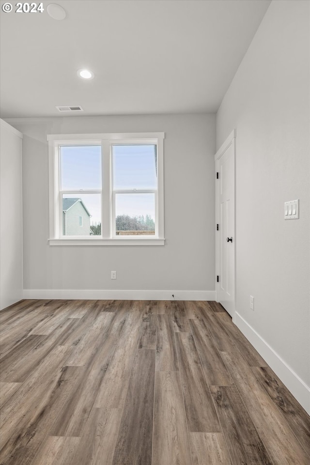
POLYGON ((62 238, 62 239, 48 239, 50 246, 164 246, 165 239, 143 238, 143 237, 128 237, 116 239, 102 239, 100 238, 62 238))

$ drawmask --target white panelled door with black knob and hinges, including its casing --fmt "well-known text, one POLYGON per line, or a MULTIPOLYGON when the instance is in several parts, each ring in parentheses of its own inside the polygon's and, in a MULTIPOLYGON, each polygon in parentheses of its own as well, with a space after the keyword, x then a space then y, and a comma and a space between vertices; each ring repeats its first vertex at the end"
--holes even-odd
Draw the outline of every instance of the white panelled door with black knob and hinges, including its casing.
MULTIPOLYGON (((233 137, 232 137, 233 136, 233 137)), ((234 318, 235 311, 235 138, 216 155, 217 301, 234 318)))

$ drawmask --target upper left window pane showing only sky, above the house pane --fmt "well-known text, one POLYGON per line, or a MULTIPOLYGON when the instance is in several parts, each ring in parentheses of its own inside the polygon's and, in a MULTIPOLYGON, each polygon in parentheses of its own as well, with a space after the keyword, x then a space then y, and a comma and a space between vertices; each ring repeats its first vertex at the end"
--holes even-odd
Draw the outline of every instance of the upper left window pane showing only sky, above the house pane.
POLYGON ((61 190, 101 189, 101 146, 61 147, 61 190))

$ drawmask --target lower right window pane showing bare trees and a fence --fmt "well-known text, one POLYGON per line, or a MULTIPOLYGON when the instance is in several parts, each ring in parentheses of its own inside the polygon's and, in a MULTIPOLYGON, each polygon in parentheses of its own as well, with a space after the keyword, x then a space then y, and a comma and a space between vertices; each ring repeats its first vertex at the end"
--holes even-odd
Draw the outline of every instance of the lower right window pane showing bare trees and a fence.
POLYGON ((115 194, 116 235, 155 234, 155 194, 115 194))

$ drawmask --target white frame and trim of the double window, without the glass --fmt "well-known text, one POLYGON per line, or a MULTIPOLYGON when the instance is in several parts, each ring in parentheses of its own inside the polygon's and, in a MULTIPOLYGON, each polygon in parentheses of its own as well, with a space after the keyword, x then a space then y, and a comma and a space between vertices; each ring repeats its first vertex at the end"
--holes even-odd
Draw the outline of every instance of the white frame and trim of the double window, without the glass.
MULTIPOLYGON (((49 245, 50 246, 163 246, 164 238, 164 137, 160 133, 123 134, 53 134, 48 135, 49 166, 49 245), (155 236, 116 236, 115 193, 112 191, 112 145, 153 144, 157 153, 157 189, 155 192, 155 236), (62 204, 60 199, 60 147, 62 145, 101 145, 101 227, 102 236, 62 236, 62 204), (114 203, 113 203, 114 202, 114 203), (114 205, 114 206, 113 206, 114 205)), ((100 190, 96 191, 96 193, 100 190)), ((122 190, 125 193, 124 190, 122 190)), ((137 192, 134 190, 126 190, 137 192)), ((139 189, 138 192, 142 192, 139 189)), ((66 191, 65 193, 69 193, 66 191)), ((82 193, 82 192, 81 192, 82 193)), ((85 190, 85 193, 90 193, 85 190)))

